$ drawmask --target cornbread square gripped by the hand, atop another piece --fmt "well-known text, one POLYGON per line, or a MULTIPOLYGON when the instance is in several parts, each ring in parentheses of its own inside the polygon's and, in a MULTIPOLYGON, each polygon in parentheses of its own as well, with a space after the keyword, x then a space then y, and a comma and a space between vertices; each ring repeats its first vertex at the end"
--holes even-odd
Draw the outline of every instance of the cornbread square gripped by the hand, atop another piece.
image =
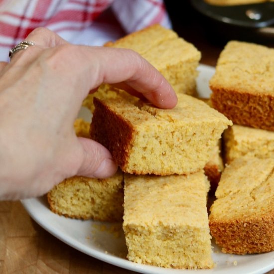
POLYGON ((232 125, 221 113, 185 94, 178 94, 172 110, 123 98, 94 98, 94 104, 91 137, 131 174, 187 174, 203 169, 222 132, 232 125))

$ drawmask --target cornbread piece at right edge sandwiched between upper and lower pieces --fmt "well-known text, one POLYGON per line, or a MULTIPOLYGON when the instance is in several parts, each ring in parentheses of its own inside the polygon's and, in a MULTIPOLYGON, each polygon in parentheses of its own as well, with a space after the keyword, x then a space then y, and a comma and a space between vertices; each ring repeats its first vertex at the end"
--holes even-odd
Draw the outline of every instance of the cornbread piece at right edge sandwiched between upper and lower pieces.
POLYGON ((274 158, 274 132, 233 125, 223 134, 225 161, 251 156, 274 158))

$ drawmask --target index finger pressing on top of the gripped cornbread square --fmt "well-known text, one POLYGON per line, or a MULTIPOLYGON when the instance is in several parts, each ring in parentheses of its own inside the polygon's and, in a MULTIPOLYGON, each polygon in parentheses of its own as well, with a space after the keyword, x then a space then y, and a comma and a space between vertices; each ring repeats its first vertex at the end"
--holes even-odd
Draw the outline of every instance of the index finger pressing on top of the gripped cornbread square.
MULTIPOLYGON (((94 59, 94 54, 94 48, 90 48, 86 60, 94 59)), ((99 48, 96 57, 99 70, 96 75, 101 80, 98 85, 125 82, 159 108, 169 109, 177 104, 177 96, 167 80, 137 52, 99 48)))

